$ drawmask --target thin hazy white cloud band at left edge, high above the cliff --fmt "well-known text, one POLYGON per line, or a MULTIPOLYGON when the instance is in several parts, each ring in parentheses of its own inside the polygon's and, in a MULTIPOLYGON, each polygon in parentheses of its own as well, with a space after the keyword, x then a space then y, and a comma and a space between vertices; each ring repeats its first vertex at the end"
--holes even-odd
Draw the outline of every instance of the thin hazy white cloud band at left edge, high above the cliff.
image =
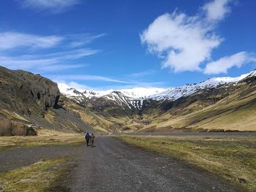
POLYGON ((16 47, 49 48, 63 40, 59 36, 38 36, 15 32, 0 33, 0 50, 10 50, 16 47))

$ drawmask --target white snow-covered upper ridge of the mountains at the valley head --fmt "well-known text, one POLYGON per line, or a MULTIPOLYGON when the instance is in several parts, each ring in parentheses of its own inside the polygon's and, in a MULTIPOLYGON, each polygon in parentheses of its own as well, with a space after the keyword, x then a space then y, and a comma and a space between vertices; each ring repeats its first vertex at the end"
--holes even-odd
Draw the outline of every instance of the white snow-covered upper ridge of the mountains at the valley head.
POLYGON ((84 99, 107 99, 120 105, 121 107, 129 107, 130 109, 135 108, 140 110, 143 106, 143 100, 153 99, 157 101, 171 100, 175 101, 181 96, 189 96, 192 93, 206 89, 215 88, 218 85, 224 85, 227 83, 236 83, 243 80, 246 77, 256 76, 256 70, 248 74, 242 74, 239 77, 214 77, 203 82, 194 84, 187 84, 177 88, 131 88, 108 91, 86 91, 76 90, 70 88, 64 83, 59 83, 59 90, 65 96, 75 99, 78 102, 84 99))

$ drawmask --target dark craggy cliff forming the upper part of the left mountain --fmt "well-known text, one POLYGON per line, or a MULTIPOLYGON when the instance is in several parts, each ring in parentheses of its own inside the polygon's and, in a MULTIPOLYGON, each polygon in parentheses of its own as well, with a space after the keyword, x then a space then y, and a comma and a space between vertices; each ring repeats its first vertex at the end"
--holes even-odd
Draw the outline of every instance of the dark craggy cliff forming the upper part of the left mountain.
POLYGON ((43 114, 49 107, 58 107, 59 96, 56 82, 39 74, 0 66, 0 110, 43 114))

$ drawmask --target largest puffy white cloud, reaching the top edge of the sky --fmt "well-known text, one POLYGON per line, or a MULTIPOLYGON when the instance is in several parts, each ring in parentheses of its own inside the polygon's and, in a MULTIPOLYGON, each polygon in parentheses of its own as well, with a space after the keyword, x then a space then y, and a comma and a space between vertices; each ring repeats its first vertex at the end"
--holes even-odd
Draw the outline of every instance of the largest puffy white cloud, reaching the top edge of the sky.
POLYGON ((203 64, 223 41, 214 31, 217 21, 230 12, 230 2, 211 1, 194 16, 177 11, 160 15, 140 34, 140 40, 149 53, 164 59, 164 68, 174 72, 203 71, 203 64))

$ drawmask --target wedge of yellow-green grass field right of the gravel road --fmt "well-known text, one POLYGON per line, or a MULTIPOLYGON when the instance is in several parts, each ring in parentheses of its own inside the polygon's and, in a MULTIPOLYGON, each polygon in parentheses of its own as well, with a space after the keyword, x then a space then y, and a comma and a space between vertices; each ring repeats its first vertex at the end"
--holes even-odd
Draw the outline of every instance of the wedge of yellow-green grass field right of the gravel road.
POLYGON ((217 175, 243 191, 256 191, 255 137, 118 137, 217 175))

